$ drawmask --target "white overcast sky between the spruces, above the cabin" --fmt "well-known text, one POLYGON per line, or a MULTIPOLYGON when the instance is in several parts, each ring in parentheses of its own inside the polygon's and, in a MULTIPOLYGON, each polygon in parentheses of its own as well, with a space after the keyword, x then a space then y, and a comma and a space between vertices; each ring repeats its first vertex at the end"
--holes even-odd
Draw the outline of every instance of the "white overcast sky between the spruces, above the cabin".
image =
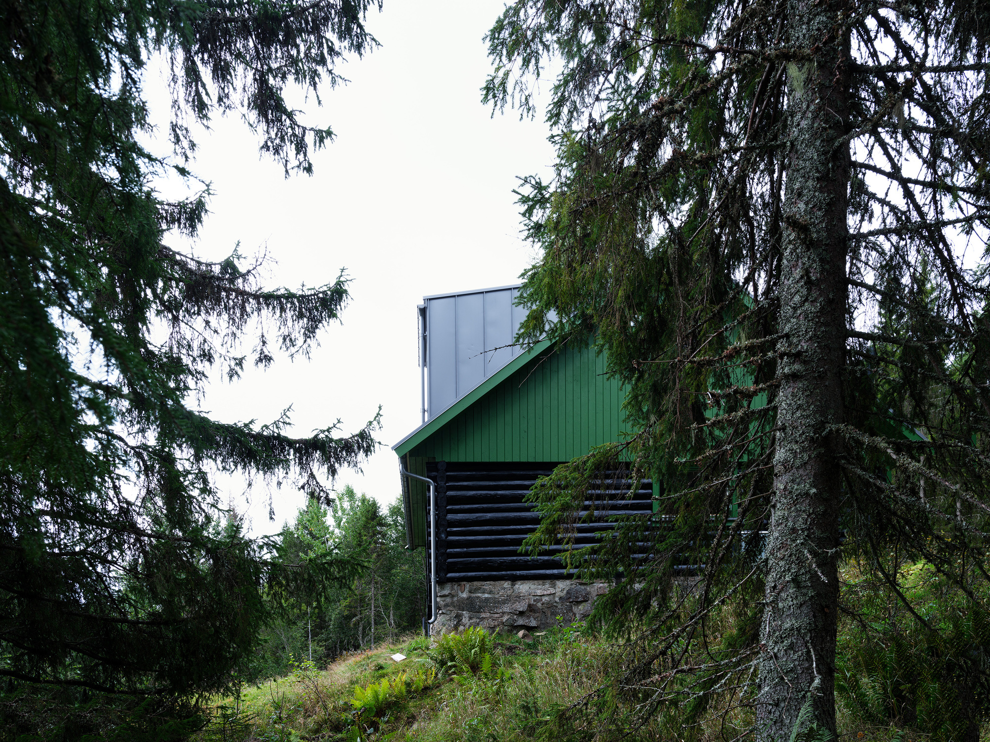
MULTIPOLYGON (((303 435, 338 417, 343 431, 356 429, 381 405, 384 445, 363 474, 344 472, 334 486, 383 504, 399 494, 390 446, 420 420, 416 305, 424 295, 515 283, 535 257, 520 238, 512 190, 518 175, 548 174, 547 128, 508 110, 492 118, 480 102, 491 68, 482 37, 503 7, 386 0, 369 15, 381 46, 343 66, 350 83, 321 91, 322 108, 307 106, 311 122, 337 134, 315 153, 312 177, 284 179, 236 115, 197 138, 194 170, 216 194, 191 246, 197 256, 226 257, 241 240, 243 253, 266 247, 277 260, 269 286, 327 283, 342 267, 353 279, 343 325, 323 333, 310 361, 279 358, 233 384, 218 379, 201 408, 225 421, 265 422, 291 406, 293 432, 303 435)), ((148 71, 152 113, 164 104, 162 79, 148 71)), ((222 487, 255 534, 277 530, 303 505, 291 483, 258 482, 247 495, 242 482, 222 487)))

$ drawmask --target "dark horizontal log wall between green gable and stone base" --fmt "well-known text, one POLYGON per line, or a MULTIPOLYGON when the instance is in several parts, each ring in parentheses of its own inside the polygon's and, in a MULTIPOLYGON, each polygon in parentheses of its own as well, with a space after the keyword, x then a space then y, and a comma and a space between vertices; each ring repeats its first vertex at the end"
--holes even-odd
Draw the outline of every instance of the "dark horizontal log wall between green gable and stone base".
MULTIPOLYGON (((519 553, 523 539, 536 529, 540 515, 526 503, 530 488, 549 474, 554 463, 429 462, 427 476, 437 483, 437 580, 560 580, 568 575, 553 551, 539 557, 519 553)), ((597 531, 613 526, 617 514, 653 510, 652 482, 634 482, 608 474, 594 498, 596 519, 577 525, 577 545, 594 543, 597 531), (602 507, 606 502, 607 506, 602 507)), ((429 518, 428 529, 429 529, 429 518)), ((559 553, 560 547, 555 547, 559 553)))

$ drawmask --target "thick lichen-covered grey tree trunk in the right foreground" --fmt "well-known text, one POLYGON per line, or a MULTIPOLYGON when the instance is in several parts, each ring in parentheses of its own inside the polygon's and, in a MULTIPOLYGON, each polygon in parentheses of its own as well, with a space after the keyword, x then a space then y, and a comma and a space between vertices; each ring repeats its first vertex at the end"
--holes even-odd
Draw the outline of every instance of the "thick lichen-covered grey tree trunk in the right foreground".
MULTIPOLYGON (((774 495, 766 545, 766 616, 757 739, 787 742, 802 707, 835 732, 848 146, 848 41, 841 0, 788 0, 790 150, 780 276, 774 495)), ((802 724, 802 726, 807 726, 802 724)))

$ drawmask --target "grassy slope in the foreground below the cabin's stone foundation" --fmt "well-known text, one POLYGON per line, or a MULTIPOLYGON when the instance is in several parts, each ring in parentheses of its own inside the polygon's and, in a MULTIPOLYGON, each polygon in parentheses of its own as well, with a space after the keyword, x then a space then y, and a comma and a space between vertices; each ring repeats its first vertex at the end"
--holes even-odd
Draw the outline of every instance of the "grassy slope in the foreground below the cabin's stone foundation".
MULTIPOLYGON (((248 688, 240 704, 228 699, 218 722, 197 742, 296 742, 297 740, 391 739, 424 742, 516 742, 533 739, 550 712, 568 705, 604 683, 615 666, 615 649, 570 629, 543 632, 525 643, 516 637, 498 641, 498 664, 509 676, 488 679, 440 678, 419 693, 391 704, 380 718, 365 717, 358 726, 349 700, 354 688, 383 678, 407 677, 432 663, 422 638, 407 638, 374 650, 349 655, 325 670, 298 668, 287 678, 248 688), (407 659, 394 662, 390 655, 407 659)), ((863 723, 840 704, 842 739, 856 742, 917 740, 898 736, 892 727, 863 723)), ((740 719, 742 720, 742 719, 740 719)), ((717 724, 684 734, 695 740, 723 739, 717 724)), ((735 735, 729 735, 730 737, 735 735)), ((555 737, 560 739, 562 737, 555 737)), ((634 739, 669 740, 670 730, 646 728, 634 739)), ((675 739, 680 739, 680 734, 675 739)))

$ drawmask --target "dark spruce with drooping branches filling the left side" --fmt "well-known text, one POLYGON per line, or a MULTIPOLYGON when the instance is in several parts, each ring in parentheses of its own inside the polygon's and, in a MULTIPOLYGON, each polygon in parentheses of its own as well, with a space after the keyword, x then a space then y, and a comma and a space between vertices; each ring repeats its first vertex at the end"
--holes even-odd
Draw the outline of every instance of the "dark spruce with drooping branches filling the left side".
MULTIPOLYGON (((3 0, 0 3, 0 676, 127 694, 229 687, 284 596, 348 578, 328 557, 272 558, 220 510, 213 475, 333 477, 375 448, 377 417, 292 437, 287 417, 197 410, 211 370, 235 379, 305 357, 347 303, 347 278, 259 284, 235 252, 172 249, 209 189, 190 185, 191 124, 240 112, 286 175, 333 139, 289 86, 343 82, 376 42, 373 0, 3 0), (173 152, 151 134, 143 80, 170 72, 173 152), (249 352, 242 351, 246 342, 249 352)), ((10 681, 8 681, 10 682, 10 681)))

